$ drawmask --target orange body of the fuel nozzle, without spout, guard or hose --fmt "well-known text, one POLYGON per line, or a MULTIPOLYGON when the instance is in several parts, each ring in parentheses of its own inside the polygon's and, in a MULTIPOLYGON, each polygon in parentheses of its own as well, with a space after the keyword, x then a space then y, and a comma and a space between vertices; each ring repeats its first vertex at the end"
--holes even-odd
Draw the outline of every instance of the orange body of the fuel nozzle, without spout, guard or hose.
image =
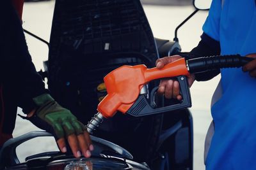
POLYGON ((116 111, 126 113, 136 101, 143 85, 159 78, 189 76, 184 58, 166 64, 162 69, 147 69, 145 65, 122 66, 104 77, 108 95, 99 103, 97 110, 106 118, 116 111))

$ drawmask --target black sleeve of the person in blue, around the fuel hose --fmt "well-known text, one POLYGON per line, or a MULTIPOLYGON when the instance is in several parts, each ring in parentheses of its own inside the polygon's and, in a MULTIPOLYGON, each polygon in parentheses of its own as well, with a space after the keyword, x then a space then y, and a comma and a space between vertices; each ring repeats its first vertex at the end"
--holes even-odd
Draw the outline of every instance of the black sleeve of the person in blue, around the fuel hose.
MULTIPOLYGON (((212 55, 220 55, 220 42, 212 39, 207 34, 203 33, 201 36, 201 41, 198 43, 198 46, 193 48, 191 52, 189 52, 188 57, 196 58, 196 57, 207 57, 212 55)), ((220 73, 220 69, 216 69, 214 71, 205 71, 202 73, 196 73, 195 78, 196 81, 206 81, 214 78, 220 73)))

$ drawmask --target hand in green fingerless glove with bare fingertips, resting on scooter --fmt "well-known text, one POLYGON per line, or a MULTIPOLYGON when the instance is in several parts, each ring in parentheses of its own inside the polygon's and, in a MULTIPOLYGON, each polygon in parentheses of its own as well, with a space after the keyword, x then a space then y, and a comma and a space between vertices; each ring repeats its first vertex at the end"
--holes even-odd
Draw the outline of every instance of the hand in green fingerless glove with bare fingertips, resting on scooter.
POLYGON ((61 107, 49 94, 37 96, 33 101, 38 108, 28 120, 51 132, 61 152, 67 152, 66 138, 75 157, 81 157, 81 152, 84 157, 91 156, 93 145, 86 127, 69 110, 61 107))

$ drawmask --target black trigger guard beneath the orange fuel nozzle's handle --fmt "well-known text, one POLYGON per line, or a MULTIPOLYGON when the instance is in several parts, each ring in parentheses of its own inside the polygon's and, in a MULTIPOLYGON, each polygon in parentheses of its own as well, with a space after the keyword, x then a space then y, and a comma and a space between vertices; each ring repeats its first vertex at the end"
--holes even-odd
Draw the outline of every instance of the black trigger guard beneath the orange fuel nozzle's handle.
POLYGON ((179 81, 180 93, 182 95, 182 101, 180 101, 180 103, 158 108, 155 101, 158 87, 155 87, 150 93, 149 99, 147 99, 145 94, 140 94, 138 99, 127 111, 127 114, 134 117, 142 117, 145 115, 154 115, 157 113, 164 113, 166 111, 180 110, 191 107, 191 96, 189 91, 188 78, 186 76, 177 76, 177 81, 179 81))

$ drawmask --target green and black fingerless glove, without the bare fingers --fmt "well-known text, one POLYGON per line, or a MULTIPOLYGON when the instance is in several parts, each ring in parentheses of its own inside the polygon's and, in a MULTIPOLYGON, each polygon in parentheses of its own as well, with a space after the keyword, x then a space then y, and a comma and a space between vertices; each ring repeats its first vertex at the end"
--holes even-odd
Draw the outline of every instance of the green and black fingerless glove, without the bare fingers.
POLYGON ((33 101, 39 108, 29 120, 40 129, 51 132, 56 139, 67 138, 70 134, 79 135, 86 131, 86 127, 49 94, 37 96, 33 101))

